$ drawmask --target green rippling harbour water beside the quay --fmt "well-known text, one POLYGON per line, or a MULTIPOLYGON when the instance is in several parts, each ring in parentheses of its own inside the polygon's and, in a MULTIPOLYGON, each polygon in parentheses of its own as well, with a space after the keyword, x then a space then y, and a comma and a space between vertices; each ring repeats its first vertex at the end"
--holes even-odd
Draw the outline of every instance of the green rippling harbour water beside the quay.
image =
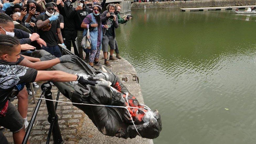
POLYGON ((256 14, 132 10, 116 31, 144 102, 161 114, 154 143, 256 142, 256 14))

